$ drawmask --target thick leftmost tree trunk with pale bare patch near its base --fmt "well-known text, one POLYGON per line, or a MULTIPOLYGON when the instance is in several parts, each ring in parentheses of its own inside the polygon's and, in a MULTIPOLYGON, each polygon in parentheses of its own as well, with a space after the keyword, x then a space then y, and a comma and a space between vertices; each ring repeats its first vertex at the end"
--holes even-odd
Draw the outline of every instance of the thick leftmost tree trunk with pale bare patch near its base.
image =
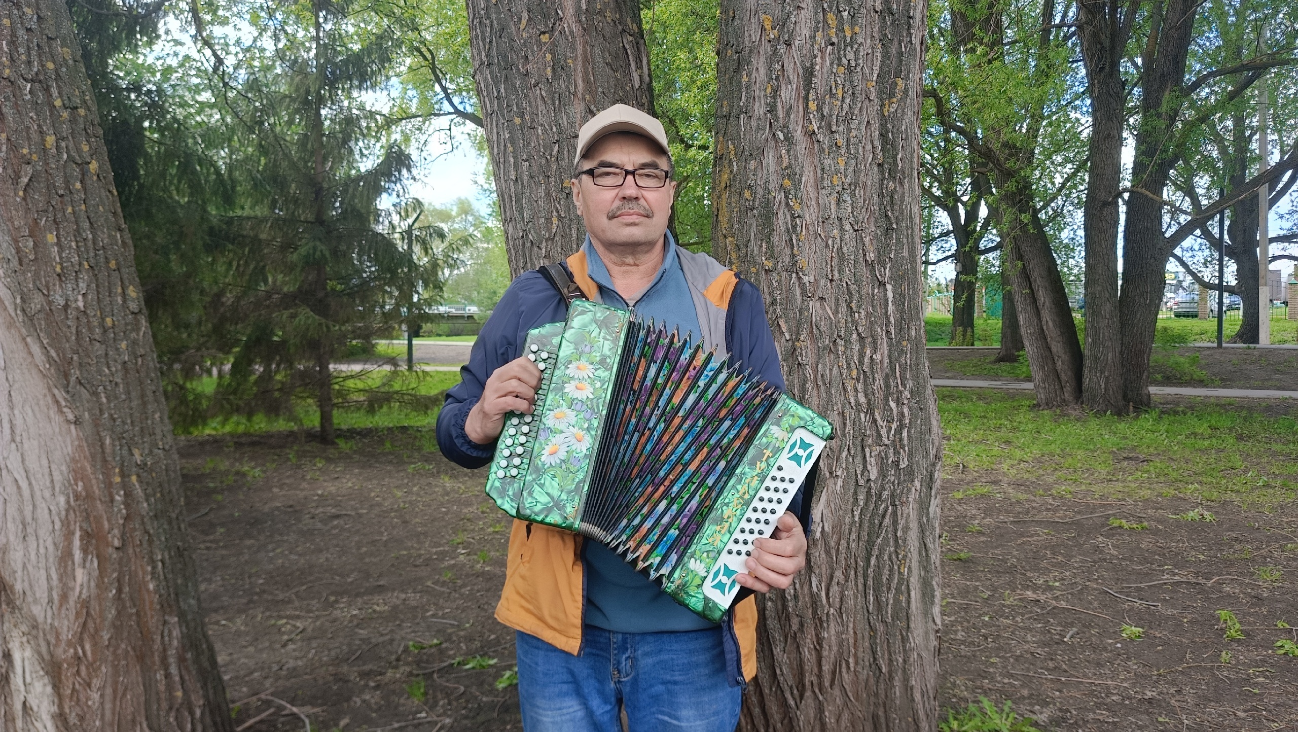
POLYGON ((67 8, 0 17, 0 729, 228 731, 67 8))

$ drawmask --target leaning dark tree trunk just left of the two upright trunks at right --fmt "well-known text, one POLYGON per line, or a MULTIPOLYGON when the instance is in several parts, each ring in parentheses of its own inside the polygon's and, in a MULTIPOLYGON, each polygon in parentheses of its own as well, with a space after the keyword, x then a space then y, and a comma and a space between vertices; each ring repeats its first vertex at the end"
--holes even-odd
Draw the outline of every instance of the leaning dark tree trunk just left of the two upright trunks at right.
POLYGON ((1032 184, 1003 178, 997 191, 1001 193, 993 210, 1007 252, 1009 282, 1037 406, 1073 406, 1081 398, 1081 344, 1059 265, 1036 212, 1032 184))

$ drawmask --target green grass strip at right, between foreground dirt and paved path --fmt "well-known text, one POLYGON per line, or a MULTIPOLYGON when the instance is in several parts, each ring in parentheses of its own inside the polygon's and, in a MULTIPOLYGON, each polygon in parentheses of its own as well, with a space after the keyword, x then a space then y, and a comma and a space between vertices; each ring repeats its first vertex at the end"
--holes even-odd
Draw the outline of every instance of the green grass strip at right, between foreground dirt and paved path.
POLYGON ((1298 496, 1298 421, 1229 409, 1085 417, 1033 409, 1031 395, 937 389, 944 469, 999 470, 1042 489, 1120 498, 1182 496, 1268 506, 1298 496))

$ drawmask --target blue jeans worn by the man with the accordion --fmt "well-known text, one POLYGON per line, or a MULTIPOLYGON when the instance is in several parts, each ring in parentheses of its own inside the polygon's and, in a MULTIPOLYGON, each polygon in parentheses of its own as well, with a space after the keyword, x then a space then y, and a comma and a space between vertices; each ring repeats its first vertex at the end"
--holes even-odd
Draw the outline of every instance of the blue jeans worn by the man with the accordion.
POLYGON ((571 655, 518 633, 524 732, 733 732, 744 690, 729 684, 722 628, 615 633, 587 626, 571 655))

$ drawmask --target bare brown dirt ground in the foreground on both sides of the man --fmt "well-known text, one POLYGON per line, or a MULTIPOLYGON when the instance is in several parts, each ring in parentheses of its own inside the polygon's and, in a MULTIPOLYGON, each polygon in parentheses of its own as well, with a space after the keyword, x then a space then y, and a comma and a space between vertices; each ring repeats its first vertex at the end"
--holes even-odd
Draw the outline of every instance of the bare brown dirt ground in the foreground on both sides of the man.
MULTIPOLYGON (((202 605, 248 732, 302 729, 280 702, 312 729, 520 727, 513 631, 492 618, 506 519, 480 472, 421 444, 182 441, 202 605)), ((1189 522, 1169 518, 1185 501, 1049 488, 944 479, 944 706, 1011 700, 1050 732, 1298 727, 1298 658, 1273 652, 1298 641, 1276 627, 1298 626, 1294 506, 1189 522), (1224 640, 1218 610, 1243 639, 1224 640)))

